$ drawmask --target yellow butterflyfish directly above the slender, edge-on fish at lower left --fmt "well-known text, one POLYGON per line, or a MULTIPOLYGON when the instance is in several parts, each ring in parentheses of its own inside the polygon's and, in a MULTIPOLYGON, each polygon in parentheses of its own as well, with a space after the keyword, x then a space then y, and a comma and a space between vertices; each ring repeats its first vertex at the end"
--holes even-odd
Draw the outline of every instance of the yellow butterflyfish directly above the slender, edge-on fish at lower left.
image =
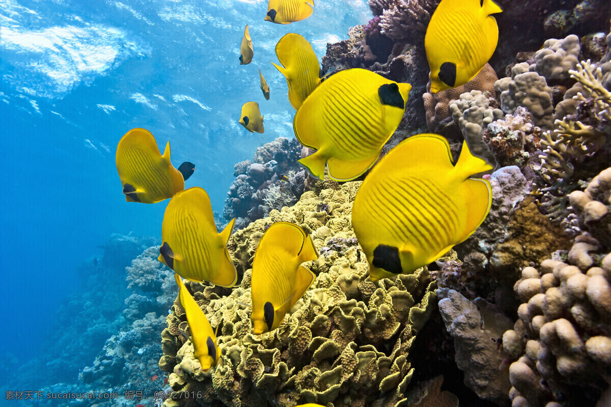
POLYGON ((218 233, 206 191, 192 187, 178 192, 163 216, 158 260, 188 280, 233 287, 238 273, 227 251, 227 240, 234 222, 232 219, 218 233))

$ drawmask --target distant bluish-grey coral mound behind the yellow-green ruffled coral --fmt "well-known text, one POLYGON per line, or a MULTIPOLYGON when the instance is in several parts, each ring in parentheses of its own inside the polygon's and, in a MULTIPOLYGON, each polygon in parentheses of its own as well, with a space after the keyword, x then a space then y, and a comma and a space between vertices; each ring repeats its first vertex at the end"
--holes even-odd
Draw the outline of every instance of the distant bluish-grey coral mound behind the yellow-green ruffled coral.
POLYGON ((254 162, 236 164, 236 179, 225 199, 225 221, 236 218, 235 228, 244 228, 271 208, 295 203, 304 188, 303 182, 295 180, 297 171, 302 170, 297 163, 301 148, 297 139, 279 137, 257 148, 254 162))

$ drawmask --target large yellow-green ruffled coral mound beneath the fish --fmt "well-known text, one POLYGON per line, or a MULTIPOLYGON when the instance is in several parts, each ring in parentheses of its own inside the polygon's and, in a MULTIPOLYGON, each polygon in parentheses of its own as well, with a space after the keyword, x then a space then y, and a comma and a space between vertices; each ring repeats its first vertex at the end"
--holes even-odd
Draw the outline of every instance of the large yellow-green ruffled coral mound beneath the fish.
POLYGON ((185 340, 184 312, 174 305, 163 331, 159 366, 178 391, 164 406, 222 402, 228 406, 393 406, 407 396, 414 369, 407 356, 415 335, 434 308, 428 270, 394 281, 365 281, 368 265, 350 223, 360 182, 341 189, 305 192, 293 207, 271 211, 230 238, 228 247, 244 277, 230 295, 216 287, 186 283, 219 328, 221 359, 203 372, 185 340), (317 277, 277 330, 252 334, 251 265, 260 238, 273 222, 288 221, 312 233, 320 258, 317 277), (188 393, 183 393, 188 392, 188 393), (180 398, 189 394, 199 396, 180 398))

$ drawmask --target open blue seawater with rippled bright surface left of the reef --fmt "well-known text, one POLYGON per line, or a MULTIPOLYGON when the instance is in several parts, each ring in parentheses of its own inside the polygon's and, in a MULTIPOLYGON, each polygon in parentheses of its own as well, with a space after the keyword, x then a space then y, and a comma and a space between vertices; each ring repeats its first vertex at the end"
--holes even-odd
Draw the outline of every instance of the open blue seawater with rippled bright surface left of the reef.
MULTIPOLYGON (((125 298, 121 273, 130 262, 97 265, 113 255, 99 248, 111 234, 161 238, 167 201, 125 202, 114 162, 120 137, 146 128, 162 151, 169 140, 175 167, 196 164, 186 187, 206 189, 222 212, 233 165, 263 143, 293 137, 287 84, 269 63, 276 42, 298 32, 321 58, 327 42, 371 17, 366 0, 316 1, 310 18, 287 25, 263 21, 266 10, 263 0, 0 0, 4 384, 23 372, 31 386, 57 383, 45 370, 51 351, 92 363, 100 344, 71 355, 49 337, 86 325, 78 320, 84 290, 125 298), (246 24, 254 60, 241 66, 246 24), (247 101, 260 104, 265 134, 238 124, 247 101)), ((61 381, 76 382, 78 372, 64 373, 61 381)))

